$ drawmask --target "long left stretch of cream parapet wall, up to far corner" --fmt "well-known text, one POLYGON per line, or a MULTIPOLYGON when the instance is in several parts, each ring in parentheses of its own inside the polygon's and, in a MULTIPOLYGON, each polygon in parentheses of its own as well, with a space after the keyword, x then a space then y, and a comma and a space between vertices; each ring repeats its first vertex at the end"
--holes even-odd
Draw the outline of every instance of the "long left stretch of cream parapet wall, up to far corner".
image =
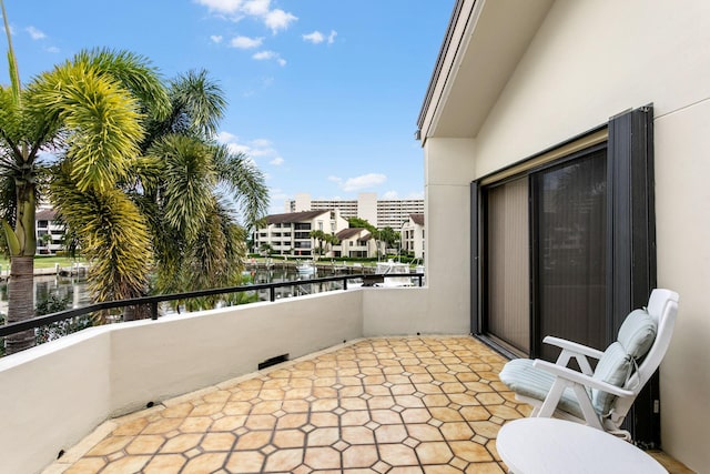
MULTIPOLYGON (((362 290, 81 331, 0 359, 0 473, 37 473, 113 415, 363 335, 362 290)), ((397 316, 399 305, 387 313, 397 316)), ((402 333, 402 332, 398 332, 402 333)))

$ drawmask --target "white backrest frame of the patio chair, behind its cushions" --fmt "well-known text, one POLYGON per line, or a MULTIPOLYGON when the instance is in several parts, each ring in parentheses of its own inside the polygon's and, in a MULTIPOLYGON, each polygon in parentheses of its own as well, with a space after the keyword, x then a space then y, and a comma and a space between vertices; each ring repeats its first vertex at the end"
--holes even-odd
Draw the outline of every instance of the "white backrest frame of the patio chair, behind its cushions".
POLYGON ((638 395, 661 364, 673 334, 676 315, 678 313, 678 293, 670 290, 656 289, 651 292, 646 311, 656 322, 656 337, 648 353, 640 361, 638 369, 631 374, 626 384, 623 384, 625 389, 633 392, 633 396, 617 397, 612 403, 611 422, 615 425, 621 424, 631 409, 636 395, 638 395))

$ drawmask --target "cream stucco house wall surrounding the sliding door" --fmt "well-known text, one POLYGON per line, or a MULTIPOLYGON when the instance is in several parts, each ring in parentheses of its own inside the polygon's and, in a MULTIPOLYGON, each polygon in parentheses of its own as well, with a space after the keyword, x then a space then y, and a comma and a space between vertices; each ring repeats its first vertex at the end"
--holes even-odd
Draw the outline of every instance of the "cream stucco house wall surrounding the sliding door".
POLYGON ((462 255, 467 245, 447 240, 454 226, 446 219, 449 209, 467 212, 464 181, 653 103, 658 284, 680 294, 661 365, 661 438, 665 451, 698 472, 710 466, 708 44, 706 0, 557 1, 470 144, 425 142, 427 280, 438 294, 454 290, 446 273, 456 263, 447 255, 462 255), (435 167, 449 169, 446 179, 437 179, 435 167))

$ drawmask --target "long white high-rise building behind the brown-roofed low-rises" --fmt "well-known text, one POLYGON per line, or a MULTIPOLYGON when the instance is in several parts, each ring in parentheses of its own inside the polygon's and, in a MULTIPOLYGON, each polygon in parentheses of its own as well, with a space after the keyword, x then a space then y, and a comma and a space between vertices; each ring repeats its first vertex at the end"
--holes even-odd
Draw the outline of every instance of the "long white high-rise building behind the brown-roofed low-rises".
POLYGON ((338 209, 345 219, 364 219, 377 229, 399 229, 409 214, 424 213, 423 199, 377 200, 377 193, 362 192, 356 200, 316 200, 308 193, 297 193, 294 200, 287 200, 286 212, 338 209))

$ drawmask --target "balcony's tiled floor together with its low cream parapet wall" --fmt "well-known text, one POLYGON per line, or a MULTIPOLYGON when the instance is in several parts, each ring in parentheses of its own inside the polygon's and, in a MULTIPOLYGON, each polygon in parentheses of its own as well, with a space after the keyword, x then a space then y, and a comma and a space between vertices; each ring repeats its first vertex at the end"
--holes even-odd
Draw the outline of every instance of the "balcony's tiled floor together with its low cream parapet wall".
POLYGON ((440 332, 430 296, 335 291, 92 327, 0 360, 0 472, 503 473, 498 428, 529 409, 475 339, 394 335, 440 332))

